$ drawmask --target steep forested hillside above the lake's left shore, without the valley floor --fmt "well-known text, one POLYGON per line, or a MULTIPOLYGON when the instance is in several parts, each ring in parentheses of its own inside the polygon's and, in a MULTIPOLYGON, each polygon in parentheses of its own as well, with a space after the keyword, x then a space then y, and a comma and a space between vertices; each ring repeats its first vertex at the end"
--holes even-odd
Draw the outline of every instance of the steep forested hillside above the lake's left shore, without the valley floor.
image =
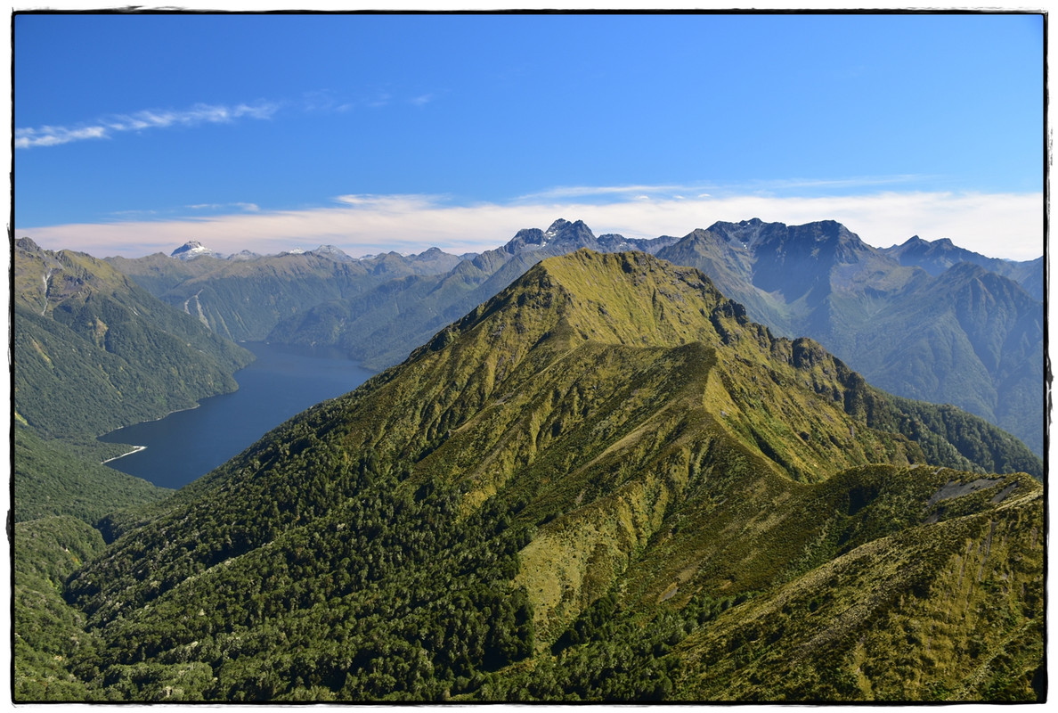
POLYGON ((94 439, 236 389, 253 355, 84 253, 15 250, 15 418, 94 439))

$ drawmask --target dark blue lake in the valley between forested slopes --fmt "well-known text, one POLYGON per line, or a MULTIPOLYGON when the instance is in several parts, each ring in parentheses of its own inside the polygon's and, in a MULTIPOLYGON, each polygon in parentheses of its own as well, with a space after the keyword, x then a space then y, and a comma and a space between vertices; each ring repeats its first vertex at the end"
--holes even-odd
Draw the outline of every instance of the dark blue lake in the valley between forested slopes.
POLYGON ((120 428, 101 441, 146 446, 107 463, 163 487, 182 487, 252 445, 266 431, 322 400, 363 384, 373 372, 348 359, 243 343, 257 359, 235 374, 239 390, 199 407, 120 428))

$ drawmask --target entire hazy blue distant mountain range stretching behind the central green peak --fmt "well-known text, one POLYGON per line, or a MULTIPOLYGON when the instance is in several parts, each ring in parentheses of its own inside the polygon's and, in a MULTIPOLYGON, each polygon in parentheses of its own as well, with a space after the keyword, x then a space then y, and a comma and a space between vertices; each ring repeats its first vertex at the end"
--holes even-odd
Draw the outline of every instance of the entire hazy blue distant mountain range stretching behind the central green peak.
POLYGON ((872 384, 966 409, 1043 452, 1042 259, 918 237, 879 249, 835 221, 716 222, 681 238, 627 239, 559 219, 462 260, 435 248, 353 261, 321 248, 238 264, 208 254, 111 262, 233 339, 336 347, 383 369, 540 260, 581 248, 697 267, 776 333, 811 337, 872 384))

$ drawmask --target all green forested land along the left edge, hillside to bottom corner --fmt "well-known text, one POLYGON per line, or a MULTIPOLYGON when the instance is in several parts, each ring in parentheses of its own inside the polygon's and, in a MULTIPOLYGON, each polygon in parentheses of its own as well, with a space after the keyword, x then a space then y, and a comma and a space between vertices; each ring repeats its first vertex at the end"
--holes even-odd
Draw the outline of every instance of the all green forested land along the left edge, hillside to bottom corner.
POLYGON ((102 465, 130 449, 95 436, 231 391, 252 358, 83 253, 14 245, 11 485, 16 699, 78 700, 71 657, 95 645, 62 599, 126 507, 171 491, 102 465))

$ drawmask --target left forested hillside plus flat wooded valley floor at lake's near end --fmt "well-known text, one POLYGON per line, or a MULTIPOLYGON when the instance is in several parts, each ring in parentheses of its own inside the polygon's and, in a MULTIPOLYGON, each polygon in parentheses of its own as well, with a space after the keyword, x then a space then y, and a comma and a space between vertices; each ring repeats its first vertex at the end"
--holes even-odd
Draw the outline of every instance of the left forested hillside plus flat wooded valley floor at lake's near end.
POLYGON ((232 391, 252 355, 103 261, 15 243, 13 519, 94 523, 171 491, 101 462, 120 426, 232 391))

